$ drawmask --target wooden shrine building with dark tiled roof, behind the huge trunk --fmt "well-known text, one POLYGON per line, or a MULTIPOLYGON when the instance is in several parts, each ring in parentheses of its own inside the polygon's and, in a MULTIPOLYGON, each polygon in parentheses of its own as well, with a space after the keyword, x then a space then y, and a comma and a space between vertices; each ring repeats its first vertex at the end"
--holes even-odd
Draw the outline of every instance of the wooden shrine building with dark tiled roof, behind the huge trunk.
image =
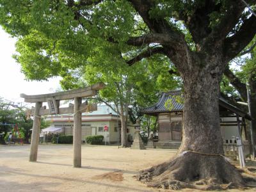
MULTIPOLYGON (((147 115, 157 116, 159 126, 157 148, 179 148, 182 141, 183 104, 177 102, 175 99, 177 95, 181 95, 179 90, 163 93, 156 104, 141 111, 147 115), (167 100, 172 100, 172 110, 165 108, 164 104, 167 100)), ((224 143, 228 143, 234 136, 240 136, 241 133, 247 140, 245 118, 250 119, 250 116, 222 97, 219 105, 221 136, 224 143)))

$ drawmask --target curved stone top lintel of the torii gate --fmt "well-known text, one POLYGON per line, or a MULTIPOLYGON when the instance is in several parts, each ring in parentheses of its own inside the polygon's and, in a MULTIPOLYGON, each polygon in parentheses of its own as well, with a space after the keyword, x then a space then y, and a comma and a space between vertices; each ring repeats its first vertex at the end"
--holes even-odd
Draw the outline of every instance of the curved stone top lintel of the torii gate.
POLYGON ((100 82, 93 84, 92 86, 86 86, 77 90, 68 90, 65 92, 48 93, 41 95, 26 95, 20 94, 20 97, 24 98, 25 102, 47 102, 47 99, 54 98, 55 100, 68 100, 75 97, 90 97, 97 95, 97 91, 104 88, 105 84, 100 82))

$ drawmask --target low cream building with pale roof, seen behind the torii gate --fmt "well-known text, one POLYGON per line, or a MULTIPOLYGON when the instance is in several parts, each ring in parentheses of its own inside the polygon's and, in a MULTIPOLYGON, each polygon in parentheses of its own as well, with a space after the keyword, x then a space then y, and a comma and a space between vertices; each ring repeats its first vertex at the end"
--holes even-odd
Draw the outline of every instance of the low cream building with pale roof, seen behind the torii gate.
MULTIPOLYGON (((51 128, 58 129, 60 134, 73 134, 74 118, 70 115, 47 116, 51 122, 51 128)), ((102 135, 103 141, 116 143, 120 138, 120 118, 109 106, 101 105, 97 111, 82 113, 82 141, 88 135, 102 135), (104 131, 108 126, 108 131, 104 131)))

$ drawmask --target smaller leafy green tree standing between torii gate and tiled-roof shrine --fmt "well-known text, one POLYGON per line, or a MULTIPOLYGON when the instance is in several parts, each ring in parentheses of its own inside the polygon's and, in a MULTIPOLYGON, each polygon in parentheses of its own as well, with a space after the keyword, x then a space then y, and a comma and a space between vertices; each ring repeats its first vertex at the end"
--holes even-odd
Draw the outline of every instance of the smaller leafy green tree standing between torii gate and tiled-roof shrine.
MULTIPOLYGON (((101 52, 101 54, 103 53, 101 52)), ((106 58, 103 56, 90 57, 88 61, 87 65, 81 66, 79 70, 70 72, 67 75, 68 80, 63 79, 62 84, 66 89, 70 89, 77 86, 79 79, 87 84, 104 82, 107 85, 106 88, 100 90, 99 95, 93 100, 104 102, 120 116, 121 145, 126 147, 128 117, 130 115, 137 119, 141 116, 138 114, 140 110, 132 111, 131 106, 132 108, 148 106, 152 102, 156 102, 159 90, 164 91, 177 87, 177 79, 168 74, 168 69, 172 65, 168 61, 158 63, 155 60, 149 63, 145 60, 138 65, 129 67, 124 59, 115 60, 111 56, 106 58), (114 104, 115 107, 111 104, 114 104)), ((136 119, 132 120, 133 124, 136 119)))

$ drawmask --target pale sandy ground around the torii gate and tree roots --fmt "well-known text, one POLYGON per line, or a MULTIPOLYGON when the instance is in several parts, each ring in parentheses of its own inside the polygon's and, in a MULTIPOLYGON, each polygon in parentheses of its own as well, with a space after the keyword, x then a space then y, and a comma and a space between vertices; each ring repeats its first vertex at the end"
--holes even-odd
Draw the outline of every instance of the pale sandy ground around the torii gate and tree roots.
POLYGON ((28 161, 29 145, 0 145, 0 191, 164 191, 147 188, 134 175, 175 152, 83 145, 82 168, 73 168, 72 145, 39 145, 36 163, 28 161))

